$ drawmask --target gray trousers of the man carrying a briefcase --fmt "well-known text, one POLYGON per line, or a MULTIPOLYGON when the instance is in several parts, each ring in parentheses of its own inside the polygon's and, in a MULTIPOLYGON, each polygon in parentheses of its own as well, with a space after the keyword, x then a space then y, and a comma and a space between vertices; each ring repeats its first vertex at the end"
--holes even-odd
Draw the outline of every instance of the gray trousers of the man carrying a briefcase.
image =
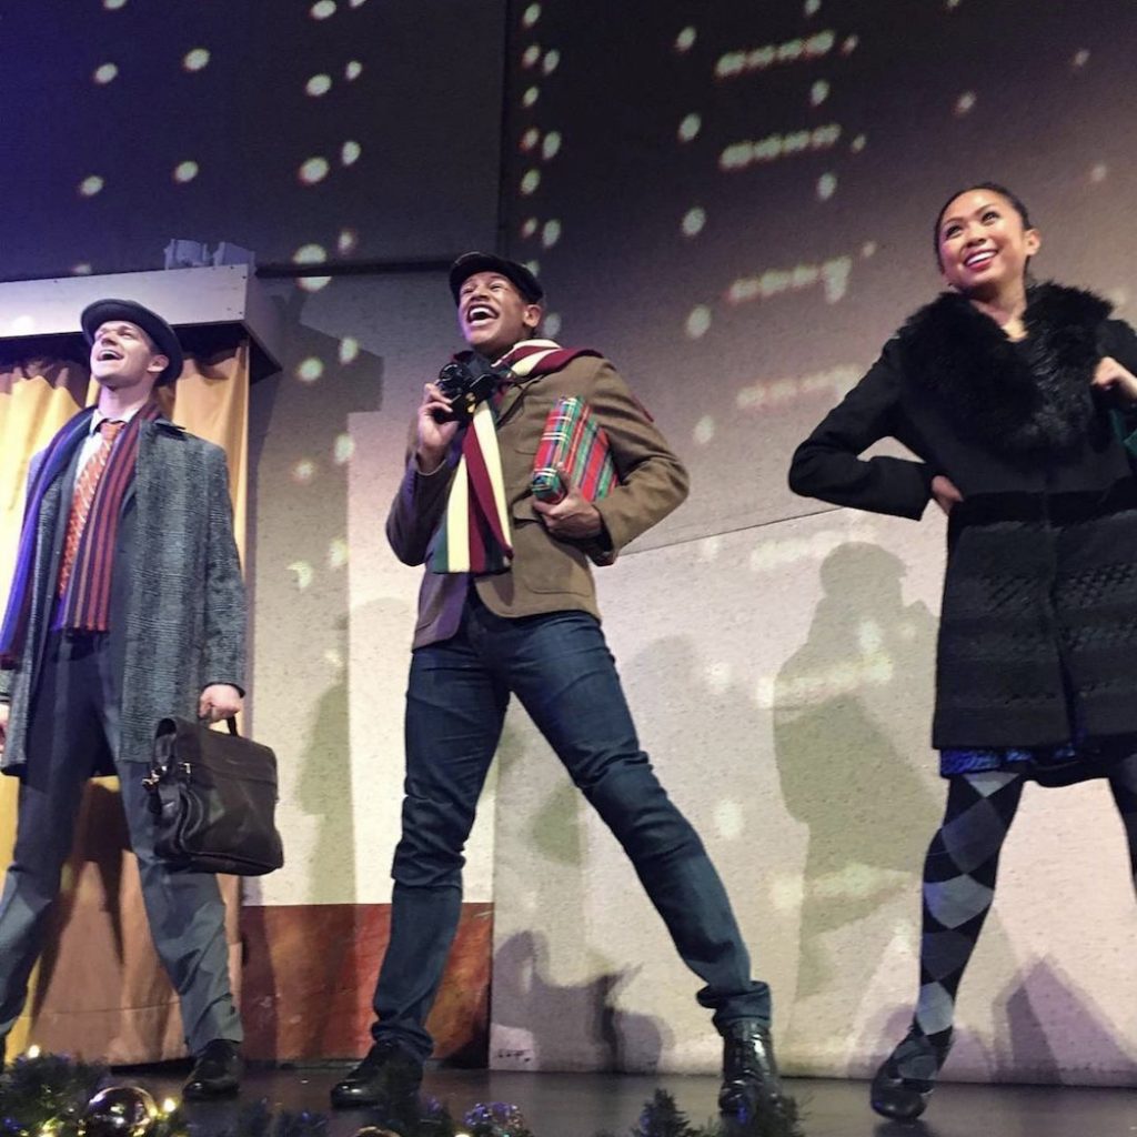
MULTIPOLYGON (((16 847, 0 898, 0 1038, 27 999, 83 789, 109 753, 122 780, 131 846, 153 945, 177 991, 191 1053, 215 1038, 242 1039, 229 981, 225 905, 211 873, 168 872, 155 856, 142 788, 144 761, 118 755, 119 692, 110 636, 52 633, 28 725, 16 847)), ((146 758, 146 755, 131 755, 146 758)))

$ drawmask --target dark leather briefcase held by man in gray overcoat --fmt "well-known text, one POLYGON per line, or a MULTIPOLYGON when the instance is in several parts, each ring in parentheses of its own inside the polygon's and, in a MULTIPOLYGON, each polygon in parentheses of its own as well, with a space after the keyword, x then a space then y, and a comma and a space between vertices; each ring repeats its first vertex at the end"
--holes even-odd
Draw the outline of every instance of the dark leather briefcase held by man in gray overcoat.
POLYGON ((276 831, 276 756, 267 746, 188 719, 163 719, 142 785, 155 853, 183 872, 259 877, 284 863, 276 831))

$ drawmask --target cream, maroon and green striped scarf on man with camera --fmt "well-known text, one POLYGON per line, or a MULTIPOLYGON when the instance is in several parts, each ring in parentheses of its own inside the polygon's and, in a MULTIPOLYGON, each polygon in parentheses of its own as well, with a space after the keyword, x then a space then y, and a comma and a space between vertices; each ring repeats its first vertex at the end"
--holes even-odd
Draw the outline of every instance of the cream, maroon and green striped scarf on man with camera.
MULTIPOLYGON (((588 348, 563 348, 553 340, 523 340, 495 366, 508 367, 512 382, 559 371, 588 348)), ((479 405, 462 440, 441 524, 431 542, 430 571, 504 572, 513 562, 509 504, 497 445, 497 399, 479 405)))

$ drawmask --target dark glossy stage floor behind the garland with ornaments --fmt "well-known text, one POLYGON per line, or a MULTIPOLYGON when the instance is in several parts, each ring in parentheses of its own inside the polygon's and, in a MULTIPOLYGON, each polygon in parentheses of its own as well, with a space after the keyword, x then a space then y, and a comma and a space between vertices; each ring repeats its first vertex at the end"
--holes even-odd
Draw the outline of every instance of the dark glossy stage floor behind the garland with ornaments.
MULTIPOLYGON (((327 1092, 346 1068, 257 1069, 249 1071, 234 1103, 189 1106, 199 1132, 231 1123, 243 1103, 267 1098, 274 1110, 329 1114, 329 1137, 350 1137, 362 1113, 331 1113, 327 1092)), ((176 1094, 184 1073, 169 1068, 118 1071, 116 1081, 142 1085, 155 1096, 176 1094)), ((789 1079, 804 1114, 807 1137, 1134 1137, 1137 1090, 1037 1086, 973 1086, 947 1082, 914 1124, 878 1118, 868 1103, 868 1084, 789 1079)), ((656 1088, 669 1090, 690 1120, 713 1115, 717 1081, 711 1077, 514 1073, 487 1070, 431 1070, 424 1089, 448 1104, 456 1118, 476 1102, 511 1102, 521 1107, 536 1137, 594 1137, 599 1130, 626 1135, 656 1088)))

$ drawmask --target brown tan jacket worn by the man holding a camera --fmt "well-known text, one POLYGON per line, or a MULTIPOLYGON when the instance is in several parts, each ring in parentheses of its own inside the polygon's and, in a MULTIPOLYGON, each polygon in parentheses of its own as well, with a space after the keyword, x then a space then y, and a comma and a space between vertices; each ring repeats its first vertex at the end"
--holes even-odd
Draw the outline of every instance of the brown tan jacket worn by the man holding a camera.
MULTIPOLYGON (((545 421, 557 399, 578 396, 608 435, 620 485, 596 503, 614 559, 629 541, 662 521, 687 497, 688 479, 615 367, 596 356, 578 356, 551 375, 522 380, 508 388, 498 421, 498 447, 509 516, 514 559, 509 570, 474 579, 482 603, 499 616, 532 616, 581 609, 599 619, 589 566, 589 542, 550 537, 533 508, 530 481, 545 421)), ((387 538, 408 565, 426 559, 428 546, 442 518, 458 460, 462 434, 446 463, 431 474, 418 471, 414 433, 407 468, 387 518, 387 538)), ((430 568, 418 594, 414 646, 449 639, 458 630, 470 587, 466 573, 430 568)))

